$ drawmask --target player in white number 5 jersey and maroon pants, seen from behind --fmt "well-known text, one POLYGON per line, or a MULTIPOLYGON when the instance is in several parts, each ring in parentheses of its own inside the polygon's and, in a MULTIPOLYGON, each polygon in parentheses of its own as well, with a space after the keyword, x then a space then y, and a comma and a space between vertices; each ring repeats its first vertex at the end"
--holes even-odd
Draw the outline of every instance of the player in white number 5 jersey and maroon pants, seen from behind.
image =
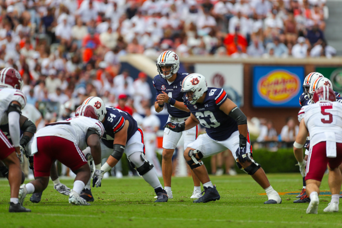
POLYGON ((304 106, 298 113, 300 120, 299 133, 293 143, 294 156, 298 164, 304 163, 303 145, 310 133, 310 153, 306 165, 300 165, 302 176, 305 176, 307 195, 310 204, 306 214, 317 214, 319 204, 319 186, 324 172, 329 169, 329 188, 331 202, 324 212, 339 211, 339 194, 342 176, 339 165, 342 163, 342 104, 336 101, 336 94, 329 86, 323 85, 316 89, 312 105, 304 106))

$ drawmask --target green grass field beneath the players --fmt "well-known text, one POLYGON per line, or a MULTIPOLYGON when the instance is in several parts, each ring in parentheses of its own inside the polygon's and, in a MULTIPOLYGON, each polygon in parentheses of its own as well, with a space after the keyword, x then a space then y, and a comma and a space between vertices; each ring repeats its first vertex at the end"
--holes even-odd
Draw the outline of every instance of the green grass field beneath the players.
MULTIPOLYGON (((268 174, 268 178, 278 192, 299 192, 302 187, 299 174, 268 174)), ((318 214, 307 215, 307 203, 293 203, 295 193, 281 195, 281 204, 263 204, 267 197, 259 193, 264 190, 247 174, 211 179, 221 199, 194 204, 190 177, 172 179, 173 199, 167 203, 154 203, 152 187, 140 177, 108 178, 102 187, 92 188, 95 201, 91 206, 69 204, 68 197, 55 191, 50 181, 40 203, 31 203, 30 195, 26 196, 24 206, 31 213, 8 212, 10 188, 7 179, 1 179, 0 227, 342 227, 341 212, 323 212, 330 196, 320 196, 318 214)), ((73 180, 61 182, 72 187, 73 180)), ((328 190, 325 175, 321 191, 328 190)))

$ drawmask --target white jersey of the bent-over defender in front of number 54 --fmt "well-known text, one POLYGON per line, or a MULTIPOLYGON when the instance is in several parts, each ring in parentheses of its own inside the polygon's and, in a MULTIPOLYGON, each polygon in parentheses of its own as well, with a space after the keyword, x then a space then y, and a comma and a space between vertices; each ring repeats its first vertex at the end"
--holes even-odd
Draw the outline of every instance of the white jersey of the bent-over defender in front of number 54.
POLYGON ((76 143, 81 150, 84 150, 87 147, 86 135, 89 128, 95 129, 100 138, 105 131, 100 121, 84 116, 77 116, 56 123, 61 124, 50 125, 39 129, 35 135, 35 139, 41 136, 58 136, 76 143), (67 122, 70 122, 70 124, 63 124, 67 122))

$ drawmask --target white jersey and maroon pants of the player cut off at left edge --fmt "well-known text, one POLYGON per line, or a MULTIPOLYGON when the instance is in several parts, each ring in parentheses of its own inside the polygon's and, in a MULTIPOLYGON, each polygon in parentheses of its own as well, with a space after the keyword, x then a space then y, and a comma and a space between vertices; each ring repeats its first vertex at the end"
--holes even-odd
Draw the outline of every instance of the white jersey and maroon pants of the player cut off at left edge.
MULTIPOLYGON (((0 89, 0 125, 8 124, 7 109, 9 105, 16 101, 24 108, 26 105, 26 97, 20 90, 11 88, 0 89)), ((19 136, 18 136, 19 137, 19 136)), ((0 160, 8 157, 15 149, 9 142, 7 137, 0 130, 0 160)))

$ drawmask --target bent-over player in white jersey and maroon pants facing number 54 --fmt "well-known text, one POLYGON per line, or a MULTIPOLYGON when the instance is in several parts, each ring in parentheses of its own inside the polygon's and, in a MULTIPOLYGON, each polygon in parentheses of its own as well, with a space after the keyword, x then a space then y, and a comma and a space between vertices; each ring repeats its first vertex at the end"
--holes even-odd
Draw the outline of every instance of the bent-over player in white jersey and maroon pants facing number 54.
POLYGON ((103 134, 103 125, 98 121, 98 115, 90 105, 78 107, 73 118, 46 124, 38 130, 31 145, 35 180, 20 187, 19 202, 22 204, 27 194, 41 192, 47 188, 51 165, 58 160, 76 174, 74 187, 69 194, 69 203, 90 205, 80 197, 81 190, 90 178, 90 168, 81 150, 90 147, 98 187, 102 179, 100 139, 103 134))

